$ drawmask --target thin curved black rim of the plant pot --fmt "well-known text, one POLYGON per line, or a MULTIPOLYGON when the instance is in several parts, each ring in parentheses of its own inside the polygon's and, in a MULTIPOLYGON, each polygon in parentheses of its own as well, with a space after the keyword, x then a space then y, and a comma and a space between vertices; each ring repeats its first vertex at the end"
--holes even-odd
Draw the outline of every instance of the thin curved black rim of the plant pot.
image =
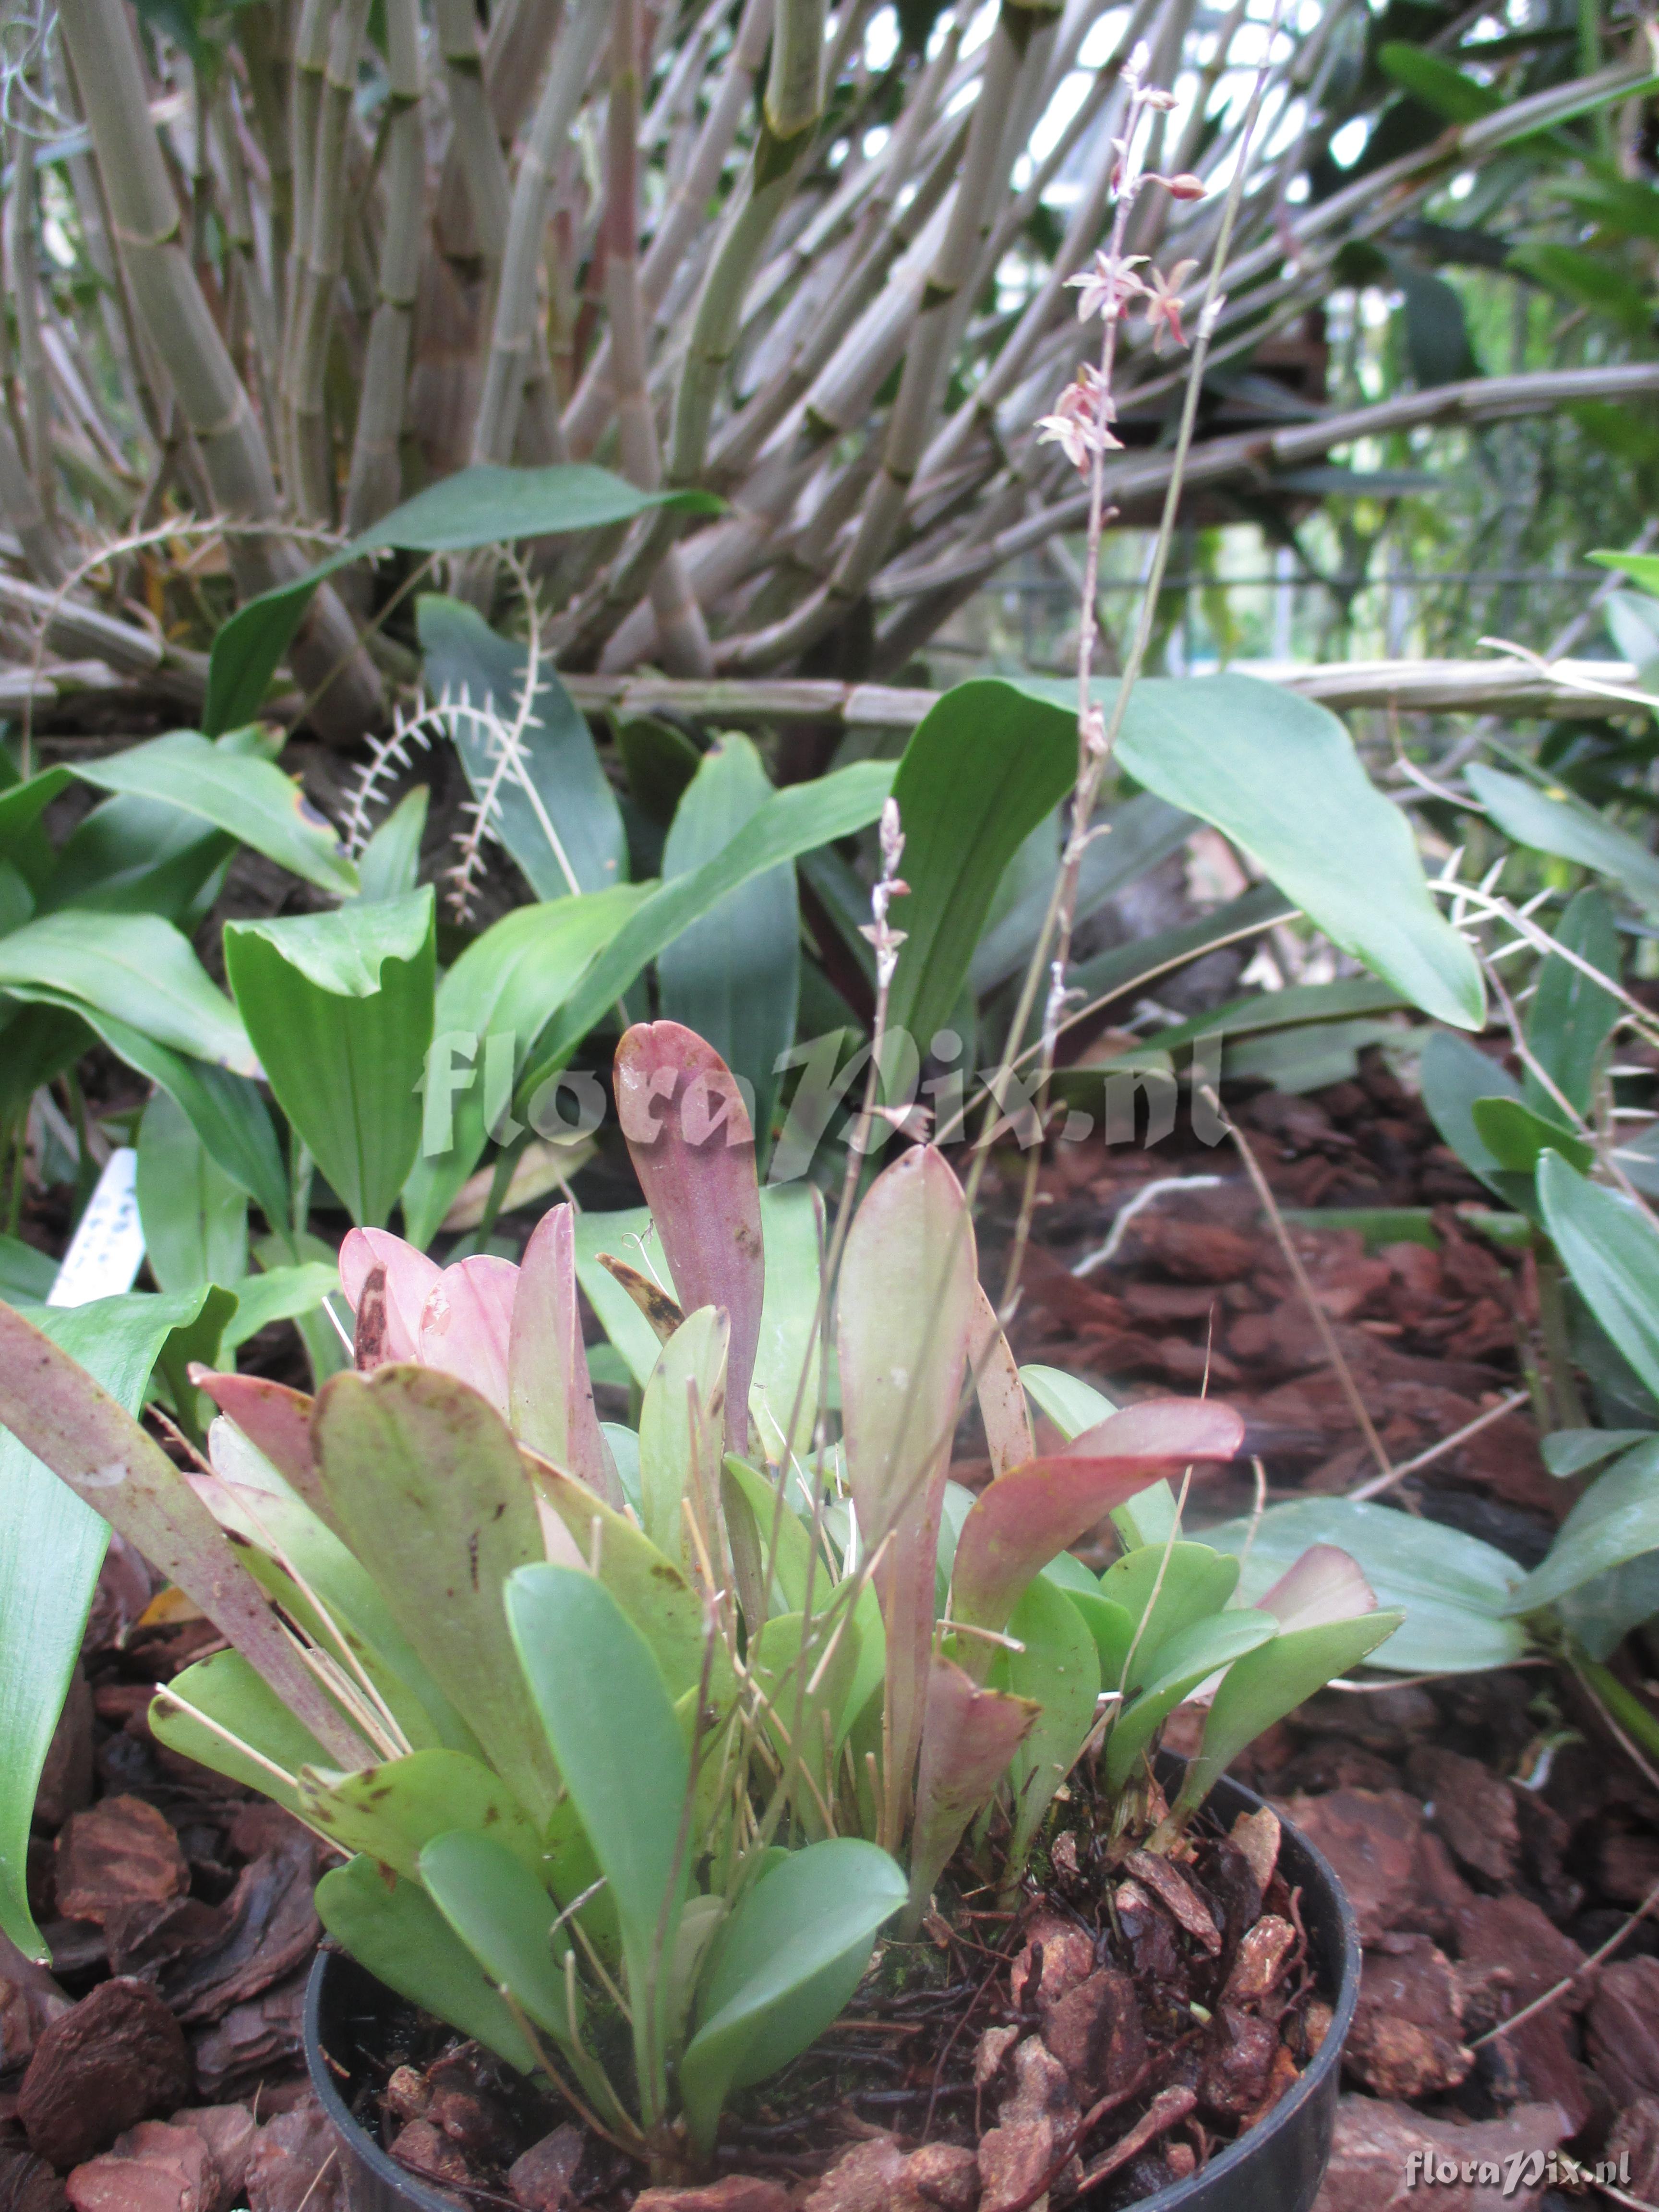
MULTIPOLYGON (((1217 1796, 1232 1796, 1237 1809, 1256 1812, 1267 1801, 1245 1783, 1234 1781, 1230 1774, 1217 1778, 1210 1801, 1217 1796), (1239 1803, 1243 1801, 1243 1803, 1239 1803)), ((1338 1931, 1338 1958, 1336 1958, 1336 1997, 1332 2002, 1332 2024, 1325 2033, 1325 2042, 1314 2053, 1312 2062, 1303 2068, 1296 2086, 1285 2090, 1279 2104, 1259 2121, 1248 2135, 1241 2135, 1237 2143, 1210 2159, 1199 2172, 1188 2174, 1186 2181, 1172 2181, 1166 2190, 1157 2190, 1152 2197, 1137 2197, 1130 2212, 1181 2212, 1181 2208, 1192 2199, 1199 2188, 1208 2188, 1214 2179, 1237 2172, 1245 2161, 1265 2157, 1272 2143, 1283 2135, 1303 2106, 1316 2097, 1329 2075, 1343 2064, 1343 2044, 1347 2042, 1347 2031, 1354 2024, 1354 2008, 1360 1997, 1360 1931, 1354 1918, 1354 1907, 1347 1900, 1347 1891, 1336 1878, 1336 1869, 1318 1849, 1318 1845, 1296 1827, 1294 1820, 1279 1816, 1281 1827, 1287 1836, 1296 1838, 1296 1847, 1307 1854, 1310 1871, 1314 1880, 1323 1882, 1336 1905, 1336 1931, 1338 1931)), ((1307 1889, 1307 1882, 1301 1885, 1307 1889)), ((321 2035, 321 2013, 323 2013, 323 1980, 327 1975, 332 1960, 347 1960, 347 1953, 336 1949, 332 1942, 323 1942, 316 1960, 312 1964, 310 1980, 305 1982, 305 2068, 312 2077, 312 2088, 327 2112, 334 2130, 349 2143, 352 2154, 361 2159, 378 2181, 387 2188, 403 2192, 405 2203, 414 2205, 416 2212, 456 2212, 458 2203, 467 2203, 460 2192, 438 2192, 436 2188, 420 2181, 407 2166, 398 2161, 376 2143, 369 2130, 358 2121, 345 2106, 334 2081, 334 2068, 323 2055, 321 2035)), ((367 1969, 363 1969, 367 1971, 367 1969)))

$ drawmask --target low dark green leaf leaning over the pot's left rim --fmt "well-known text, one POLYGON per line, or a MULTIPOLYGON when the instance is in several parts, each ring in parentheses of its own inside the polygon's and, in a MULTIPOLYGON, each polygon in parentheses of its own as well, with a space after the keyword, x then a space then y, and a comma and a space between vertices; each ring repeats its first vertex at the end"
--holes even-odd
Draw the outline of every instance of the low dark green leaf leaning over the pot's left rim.
POLYGON ((387 1880, 372 1858, 358 1856, 316 1885, 316 1913, 376 1982, 520 2073, 535 2073, 535 2051, 511 2006, 418 1882, 387 1880))

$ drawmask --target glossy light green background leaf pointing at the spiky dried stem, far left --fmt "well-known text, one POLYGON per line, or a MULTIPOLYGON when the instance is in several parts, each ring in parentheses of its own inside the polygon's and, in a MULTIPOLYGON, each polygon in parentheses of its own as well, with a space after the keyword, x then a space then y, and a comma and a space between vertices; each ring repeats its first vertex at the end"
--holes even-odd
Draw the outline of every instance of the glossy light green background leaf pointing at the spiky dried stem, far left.
POLYGON ((102 792, 159 799, 195 814, 319 891, 349 898, 358 889, 356 867, 301 785, 254 752, 215 745, 197 730, 175 730, 102 761, 84 761, 75 774, 102 792))

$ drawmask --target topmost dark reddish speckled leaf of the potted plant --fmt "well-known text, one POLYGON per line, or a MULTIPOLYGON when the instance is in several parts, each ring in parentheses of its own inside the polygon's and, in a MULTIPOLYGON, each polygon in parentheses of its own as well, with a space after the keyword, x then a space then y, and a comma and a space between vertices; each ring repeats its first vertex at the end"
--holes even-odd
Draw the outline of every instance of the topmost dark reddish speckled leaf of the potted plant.
POLYGON ((617 1046, 615 1086, 679 1305, 721 1305, 730 1318, 726 1442, 748 1455, 765 1254, 743 1093, 714 1046, 679 1022, 637 1022, 617 1046))

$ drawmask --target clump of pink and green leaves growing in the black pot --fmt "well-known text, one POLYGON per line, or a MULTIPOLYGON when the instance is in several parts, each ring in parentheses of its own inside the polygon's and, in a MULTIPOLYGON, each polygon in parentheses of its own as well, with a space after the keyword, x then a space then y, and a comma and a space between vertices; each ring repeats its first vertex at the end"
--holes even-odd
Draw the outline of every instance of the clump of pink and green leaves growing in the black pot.
MULTIPOLYGON (((1230 1604, 1237 1566, 1181 1540, 1170 1480, 1232 1455, 1239 1416, 1020 1376, 938 1150, 869 1183, 830 1283, 812 1197, 763 1203, 703 1040, 630 1029, 615 1086, 646 1241, 588 1217, 580 1261, 557 1206, 522 1267, 440 1270, 354 1230, 354 1371, 307 1400, 195 1369, 221 1409, 199 1473, 0 1307, 0 1420, 226 1635, 153 1725, 356 1854, 319 1885, 332 1933, 677 2172, 823 2033, 880 1931, 916 1927, 971 1827, 973 1880, 1009 1889, 1086 1774, 1115 1849, 1168 1849, 1400 1615, 1329 1546, 1230 1604), (588 1270, 655 1345, 637 1431, 595 1418, 588 1270), (980 1498, 947 1480, 964 1385, 980 1498), (1106 1513, 1124 1557, 1097 1579, 1066 1546, 1106 1513), (1217 1677, 1170 1805, 1148 1756, 1217 1677)), ((0 1905, 38 1947, 20 1867, 0 1905)))

